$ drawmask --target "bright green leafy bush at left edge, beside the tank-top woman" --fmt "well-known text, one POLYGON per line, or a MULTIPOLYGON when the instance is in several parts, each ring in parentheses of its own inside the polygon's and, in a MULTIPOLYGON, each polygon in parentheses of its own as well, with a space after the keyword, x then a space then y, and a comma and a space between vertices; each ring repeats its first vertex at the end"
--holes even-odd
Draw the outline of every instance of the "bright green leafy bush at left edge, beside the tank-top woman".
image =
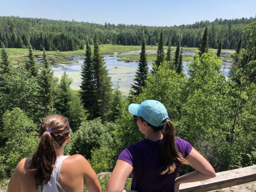
POLYGON ((19 108, 3 115, 1 137, 6 139, 1 147, 0 172, 10 176, 18 162, 24 157, 32 157, 38 137, 33 121, 19 108))

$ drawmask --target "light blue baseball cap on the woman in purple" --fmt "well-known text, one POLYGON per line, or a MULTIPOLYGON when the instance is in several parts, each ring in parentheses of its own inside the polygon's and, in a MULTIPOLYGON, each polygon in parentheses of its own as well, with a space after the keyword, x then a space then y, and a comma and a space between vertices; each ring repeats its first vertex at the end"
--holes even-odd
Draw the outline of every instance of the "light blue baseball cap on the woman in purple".
POLYGON ((169 118, 165 106, 156 100, 146 100, 141 104, 132 103, 129 105, 128 111, 133 115, 142 117, 155 127, 163 126, 165 124, 163 120, 169 118))

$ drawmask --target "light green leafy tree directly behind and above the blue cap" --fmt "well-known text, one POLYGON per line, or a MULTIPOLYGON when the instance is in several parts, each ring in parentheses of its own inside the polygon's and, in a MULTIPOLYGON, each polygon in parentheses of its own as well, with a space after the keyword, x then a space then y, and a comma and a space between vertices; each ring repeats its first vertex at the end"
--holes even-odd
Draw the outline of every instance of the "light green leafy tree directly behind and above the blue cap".
POLYGON ((158 100, 163 103, 170 119, 180 118, 180 108, 184 100, 183 89, 187 79, 182 74, 177 74, 169 68, 168 62, 163 62, 154 75, 150 75, 147 86, 142 94, 137 97, 137 103, 147 99, 158 100))

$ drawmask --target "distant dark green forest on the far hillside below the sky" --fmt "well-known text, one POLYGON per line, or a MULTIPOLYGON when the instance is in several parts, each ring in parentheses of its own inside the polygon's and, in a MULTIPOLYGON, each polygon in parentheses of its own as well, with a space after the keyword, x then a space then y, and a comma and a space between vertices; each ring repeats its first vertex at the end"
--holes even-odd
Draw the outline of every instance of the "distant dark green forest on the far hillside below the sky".
MULTIPOLYGON (((163 27, 163 44, 176 46, 180 40, 183 47, 199 47, 201 35, 206 25, 209 27, 209 47, 217 49, 222 42, 223 49, 235 49, 240 37, 242 42, 249 38, 248 31, 243 31, 246 24, 256 18, 241 19, 216 18, 214 21, 200 21, 190 25, 163 27)), ((156 45, 162 27, 110 24, 104 25, 49 20, 42 18, 0 17, 0 41, 7 48, 28 48, 46 51, 73 51, 83 49, 86 39, 93 44, 93 38, 98 36, 99 44, 141 45, 143 34, 147 45, 156 45)), ((242 48, 245 47, 242 44, 242 48)))

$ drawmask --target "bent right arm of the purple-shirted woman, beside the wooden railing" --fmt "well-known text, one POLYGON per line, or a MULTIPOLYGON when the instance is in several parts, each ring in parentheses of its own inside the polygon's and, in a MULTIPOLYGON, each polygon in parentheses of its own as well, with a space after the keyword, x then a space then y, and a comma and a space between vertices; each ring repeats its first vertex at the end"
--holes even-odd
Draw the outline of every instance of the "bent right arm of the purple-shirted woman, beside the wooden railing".
POLYGON ((195 171, 176 178, 175 192, 179 191, 178 187, 181 183, 202 181, 216 176, 211 164, 194 147, 186 157, 186 160, 195 171))

